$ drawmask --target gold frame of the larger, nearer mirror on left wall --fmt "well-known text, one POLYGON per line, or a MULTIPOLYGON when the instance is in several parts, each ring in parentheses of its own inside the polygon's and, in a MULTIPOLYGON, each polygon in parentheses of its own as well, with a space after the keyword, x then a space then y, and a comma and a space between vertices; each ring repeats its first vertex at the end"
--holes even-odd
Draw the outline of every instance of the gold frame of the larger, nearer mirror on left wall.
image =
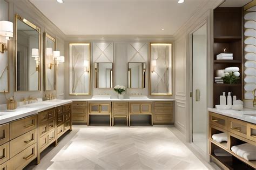
MULTIPOLYGON (((36 26, 35 24, 29 22, 27 19, 19 16, 18 14, 15 15, 15 40, 14 40, 14 67, 15 67, 15 91, 16 92, 24 92, 22 90, 17 90, 17 46, 18 46, 18 20, 25 23, 26 25, 30 26, 32 29, 38 31, 38 51, 39 51, 39 65, 38 65, 38 90, 31 90, 31 91, 41 91, 41 29, 36 26)), ((29 91, 29 90, 26 90, 29 91)))

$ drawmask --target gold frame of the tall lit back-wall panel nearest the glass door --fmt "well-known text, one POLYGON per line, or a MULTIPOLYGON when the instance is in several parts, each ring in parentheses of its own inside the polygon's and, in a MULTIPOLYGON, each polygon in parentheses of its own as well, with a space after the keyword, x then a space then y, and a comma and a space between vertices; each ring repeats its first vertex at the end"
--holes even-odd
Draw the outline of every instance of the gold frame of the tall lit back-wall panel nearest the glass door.
POLYGON ((172 58, 173 58, 173 43, 171 43, 171 42, 157 42, 157 43, 153 43, 153 42, 151 42, 150 43, 150 62, 149 62, 149 67, 150 67, 150 69, 149 69, 149 93, 150 93, 150 96, 172 96, 172 90, 173 90, 173 87, 172 87, 172 75, 173 75, 173 70, 171 70, 171 74, 169 74, 169 79, 171 79, 171 92, 170 93, 152 93, 151 92, 151 74, 152 74, 152 66, 151 66, 151 60, 153 60, 152 59, 152 56, 151 56, 151 45, 152 44, 170 44, 171 45, 171 49, 172 49, 172 51, 171 51, 171 59, 169 59, 169 62, 171 62, 171 68, 170 69, 172 69, 173 68, 173 64, 172 64, 172 58))

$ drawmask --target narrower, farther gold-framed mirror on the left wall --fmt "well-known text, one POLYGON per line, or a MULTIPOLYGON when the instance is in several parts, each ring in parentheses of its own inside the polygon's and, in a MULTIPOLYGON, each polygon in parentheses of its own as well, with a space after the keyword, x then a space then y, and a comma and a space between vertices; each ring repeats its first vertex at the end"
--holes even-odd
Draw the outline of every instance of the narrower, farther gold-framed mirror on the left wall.
POLYGON ((56 50, 56 40, 48 33, 44 33, 44 90, 56 90, 56 63, 53 51, 56 50))

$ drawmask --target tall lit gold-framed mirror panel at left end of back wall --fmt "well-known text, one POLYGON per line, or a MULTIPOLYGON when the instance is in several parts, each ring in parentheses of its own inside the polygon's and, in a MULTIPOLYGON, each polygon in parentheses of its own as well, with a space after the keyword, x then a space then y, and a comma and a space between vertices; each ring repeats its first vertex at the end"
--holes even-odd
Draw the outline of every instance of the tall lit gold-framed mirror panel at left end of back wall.
POLYGON ((69 94, 91 95, 91 44, 69 44, 69 94))

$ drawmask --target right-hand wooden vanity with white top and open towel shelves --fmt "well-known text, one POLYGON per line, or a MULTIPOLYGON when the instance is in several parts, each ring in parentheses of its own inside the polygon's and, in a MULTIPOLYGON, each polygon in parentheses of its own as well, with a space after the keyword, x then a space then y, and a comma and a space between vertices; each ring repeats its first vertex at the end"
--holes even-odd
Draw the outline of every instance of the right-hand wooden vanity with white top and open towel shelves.
POLYGON ((233 169, 234 167, 237 169, 255 169, 256 160, 248 161, 235 154, 231 149, 232 146, 246 143, 254 147, 256 146, 255 110, 234 111, 208 108, 208 111, 210 158, 224 169, 233 169), (212 135, 224 132, 227 141, 217 142, 213 140, 212 135))

